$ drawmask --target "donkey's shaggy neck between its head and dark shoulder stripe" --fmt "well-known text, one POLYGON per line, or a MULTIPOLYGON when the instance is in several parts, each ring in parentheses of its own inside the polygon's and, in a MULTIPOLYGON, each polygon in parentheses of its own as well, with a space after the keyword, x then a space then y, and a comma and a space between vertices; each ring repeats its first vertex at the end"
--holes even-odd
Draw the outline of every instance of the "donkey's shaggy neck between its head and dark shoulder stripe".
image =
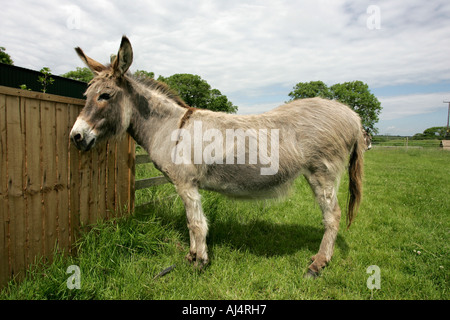
POLYGON ((129 92, 133 111, 127 131, 151 157, 155 140, 167 134, 170 137, 188 109, 181 107, 164 92, 132 79, 129 92))

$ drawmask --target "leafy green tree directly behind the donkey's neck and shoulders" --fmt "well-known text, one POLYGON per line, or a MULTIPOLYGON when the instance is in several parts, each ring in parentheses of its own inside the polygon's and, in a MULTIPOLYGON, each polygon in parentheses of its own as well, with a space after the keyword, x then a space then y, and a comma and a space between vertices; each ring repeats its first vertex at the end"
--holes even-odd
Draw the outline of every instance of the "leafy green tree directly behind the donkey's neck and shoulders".
POLYGON ((168 84, 191 107, 228 113, 237 111, 237 106, 234 106, 219 90, 211 89, 211 86, 198 75, 184 73, 167 78, 159 76, 158 81, 168 84))

